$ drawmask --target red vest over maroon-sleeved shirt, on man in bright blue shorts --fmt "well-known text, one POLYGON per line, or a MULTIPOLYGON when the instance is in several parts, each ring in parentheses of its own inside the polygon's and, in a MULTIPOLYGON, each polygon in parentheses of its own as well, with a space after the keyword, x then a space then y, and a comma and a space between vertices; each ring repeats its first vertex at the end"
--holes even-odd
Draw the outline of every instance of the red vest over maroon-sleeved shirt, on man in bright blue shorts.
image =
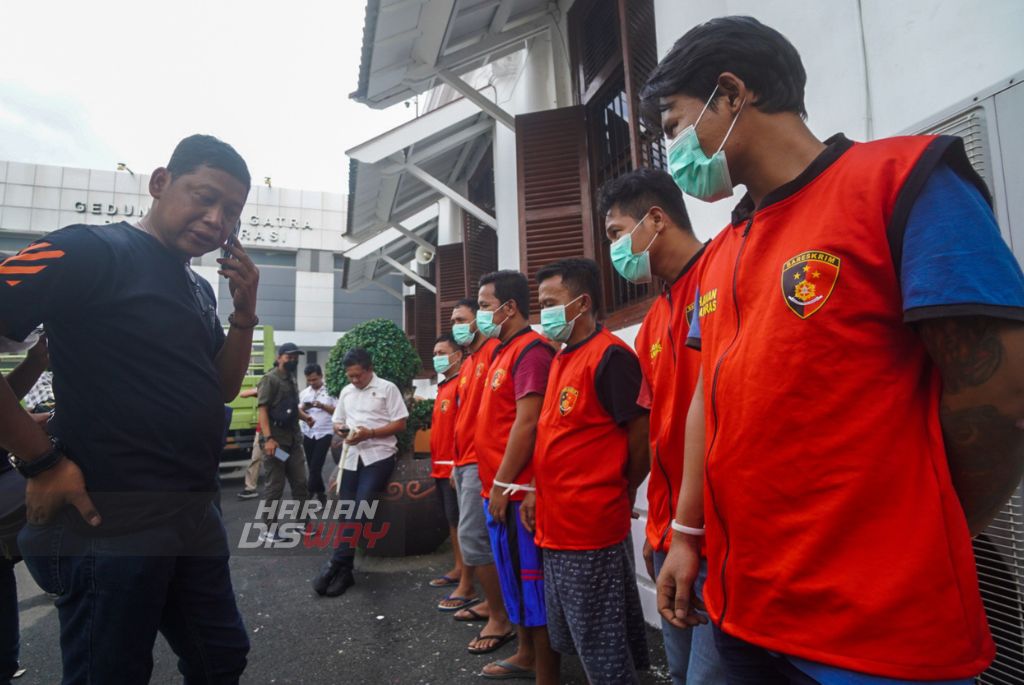
MULTIPOLYGON (((480 411, 476 417, 476 454, 479 457, 480 483, 483 497, 490 497, 490 485, 495 474, 505 458, 505 446, 509 432, 515 422, 516 398, 513 376, 519 360, 529 348, 548 343, 530 328, 525 328, 498 347, 495 360, 487 370, 487 382, 480 399, 480 411)), ((534 479, 534 467, 527 464, 515 482, 528 485, 534 479)), ((510 498, 517 501, 526 497, 523 491, 510 498)))

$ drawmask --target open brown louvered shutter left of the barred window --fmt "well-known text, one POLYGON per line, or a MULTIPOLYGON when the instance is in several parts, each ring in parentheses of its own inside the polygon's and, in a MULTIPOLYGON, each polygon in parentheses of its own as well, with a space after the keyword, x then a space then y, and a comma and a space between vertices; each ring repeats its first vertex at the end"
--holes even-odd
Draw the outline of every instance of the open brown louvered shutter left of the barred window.
POLYGON ((586 115, 578 105, 515 121, 519 254, 536 319, 538 270, 556 259, 594 256, 586 115))

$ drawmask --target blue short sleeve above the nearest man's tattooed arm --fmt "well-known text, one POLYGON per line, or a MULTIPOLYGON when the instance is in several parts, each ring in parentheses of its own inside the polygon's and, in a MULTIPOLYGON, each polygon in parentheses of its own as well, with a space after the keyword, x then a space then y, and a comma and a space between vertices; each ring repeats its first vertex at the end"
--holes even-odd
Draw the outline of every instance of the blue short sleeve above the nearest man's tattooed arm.
POLYGON ((903 318, 987 315, 1024 320, 1024 275, 991 208, 945 164, 929 176, 903 234, 903 318))

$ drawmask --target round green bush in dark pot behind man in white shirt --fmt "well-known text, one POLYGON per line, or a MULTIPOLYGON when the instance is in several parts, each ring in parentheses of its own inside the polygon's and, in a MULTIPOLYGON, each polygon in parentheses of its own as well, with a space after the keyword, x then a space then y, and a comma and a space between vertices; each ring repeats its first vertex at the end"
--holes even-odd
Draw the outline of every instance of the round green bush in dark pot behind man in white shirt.
POLYGON ((413 459, 413 436, 430 426, 432 400, 413 398, 413 378, 420 369, 420 357, 409 338, 393 322, 372 318, 353 327, 338 339, 325 368, 325 380, 333 395, 348 384, 341 361, 345 352, 361 347, 370 352, 374 373, 391 381, 401 390, 410 409, 407 428, 398 434, 398 454, 394 472, 382 494, 374 526, 390 526, 373 549, 375 556, 429 554, 447 537, 447 522, 437 506, 436 484, 430 477, 430 460, 413 459), (425 417, 425 419, 424 419, 425 417))

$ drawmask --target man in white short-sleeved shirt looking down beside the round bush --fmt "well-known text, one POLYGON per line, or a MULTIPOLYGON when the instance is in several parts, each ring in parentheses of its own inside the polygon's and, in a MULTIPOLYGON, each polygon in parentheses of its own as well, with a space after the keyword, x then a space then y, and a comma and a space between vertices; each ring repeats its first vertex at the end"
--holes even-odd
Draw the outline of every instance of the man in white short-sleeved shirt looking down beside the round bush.
MULTIPOLYGON (((341 463, 338 496, 356 502, 358 512, 365 508, 361 503, 376 500, 384 490, 394 470, 398 442, 395 435, 406 430, 409 410, 398 387, 374 373, 367 350, 353 347, 341 363, 348 385, 341 389, 334 410, 334 429, 345 435, 347 449, 341 463)), ((316 594, 337 597, 354 585, 354 558, 353 546, 339 544, 313 581, 316 594)))

